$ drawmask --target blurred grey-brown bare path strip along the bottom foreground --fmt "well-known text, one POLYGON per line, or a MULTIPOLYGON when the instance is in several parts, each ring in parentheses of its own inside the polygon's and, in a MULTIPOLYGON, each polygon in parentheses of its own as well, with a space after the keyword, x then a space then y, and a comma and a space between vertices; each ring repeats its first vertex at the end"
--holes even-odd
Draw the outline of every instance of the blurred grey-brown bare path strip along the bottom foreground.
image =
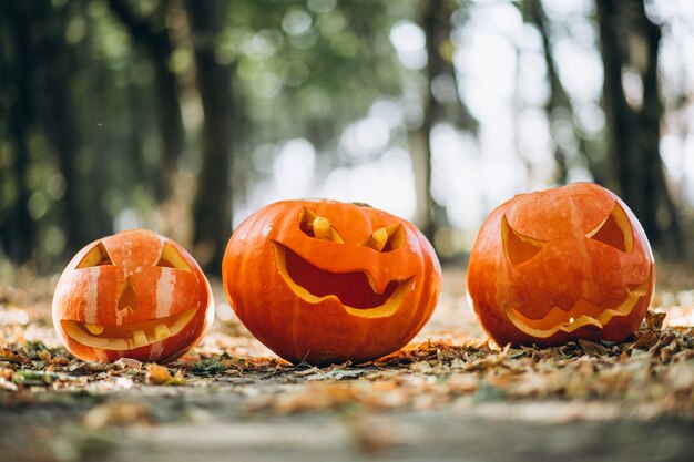
POLYGON ((0 460, 684 461, 694 434, 693 420, 616 418, 611 404, 595 402, 277 415, 244 412, 233 388, 72 400, 6 409, 0 460), (120 422, 100 417, 111 407, 123 412, 120 422))

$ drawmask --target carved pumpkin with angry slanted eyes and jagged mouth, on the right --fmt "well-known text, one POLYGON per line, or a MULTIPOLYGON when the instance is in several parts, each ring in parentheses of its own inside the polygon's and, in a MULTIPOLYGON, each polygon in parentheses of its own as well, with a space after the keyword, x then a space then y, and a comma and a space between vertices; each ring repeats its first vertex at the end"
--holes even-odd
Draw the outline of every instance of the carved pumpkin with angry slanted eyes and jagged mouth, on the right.
POLYGON ((482 225, 468 267, 471 305, 500 346, 622 341, 643 320, 654 283, 639 220, 592 183, 500 205, 482 225))

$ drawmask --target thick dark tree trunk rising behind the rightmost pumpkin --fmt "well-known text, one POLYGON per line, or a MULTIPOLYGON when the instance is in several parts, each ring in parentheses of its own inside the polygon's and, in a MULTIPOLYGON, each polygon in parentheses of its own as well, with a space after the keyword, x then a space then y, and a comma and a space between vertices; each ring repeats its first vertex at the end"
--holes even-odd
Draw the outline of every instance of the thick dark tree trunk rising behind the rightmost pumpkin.
POLYGON ((596 12, 608 145, 621 196, 654 247, 672 256, 682 255, 683 233, 659 150, 663 113, 657 85, 661 30, 646 17, 643 0, 598 1, 596 12), (624 94, 625 70, 636 72, 643 83, 640 103, 627 101, 624 94))

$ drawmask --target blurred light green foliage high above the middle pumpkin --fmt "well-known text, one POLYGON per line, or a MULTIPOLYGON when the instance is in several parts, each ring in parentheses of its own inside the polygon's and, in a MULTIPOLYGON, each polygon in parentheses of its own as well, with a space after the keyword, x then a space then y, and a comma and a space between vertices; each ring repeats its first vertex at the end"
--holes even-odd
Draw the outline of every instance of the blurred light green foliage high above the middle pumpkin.
POLYGON ((312 10, 316 3, 245 0, 229 9, 217 48, 236 63, 253 145, 304 136, 325 147, 377 97, 400 92, 387 2, 312 10))

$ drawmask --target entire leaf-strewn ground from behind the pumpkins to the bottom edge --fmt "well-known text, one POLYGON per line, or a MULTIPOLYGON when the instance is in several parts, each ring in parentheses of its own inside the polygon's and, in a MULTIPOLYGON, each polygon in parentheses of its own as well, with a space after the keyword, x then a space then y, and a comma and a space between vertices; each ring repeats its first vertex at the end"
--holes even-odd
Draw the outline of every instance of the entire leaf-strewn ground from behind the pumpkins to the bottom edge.
MULTIPOLYGON (((661 268, 659 268, 661 269, 661 268)), ((623 343, 499 348, 445 274, 416 341, 361 366, 292 366, 216 291, 181 360, 83 362, 50 320, 55 278, 0 283, 0 461, 688 460, 694 277, 665 267, 623 343)))

